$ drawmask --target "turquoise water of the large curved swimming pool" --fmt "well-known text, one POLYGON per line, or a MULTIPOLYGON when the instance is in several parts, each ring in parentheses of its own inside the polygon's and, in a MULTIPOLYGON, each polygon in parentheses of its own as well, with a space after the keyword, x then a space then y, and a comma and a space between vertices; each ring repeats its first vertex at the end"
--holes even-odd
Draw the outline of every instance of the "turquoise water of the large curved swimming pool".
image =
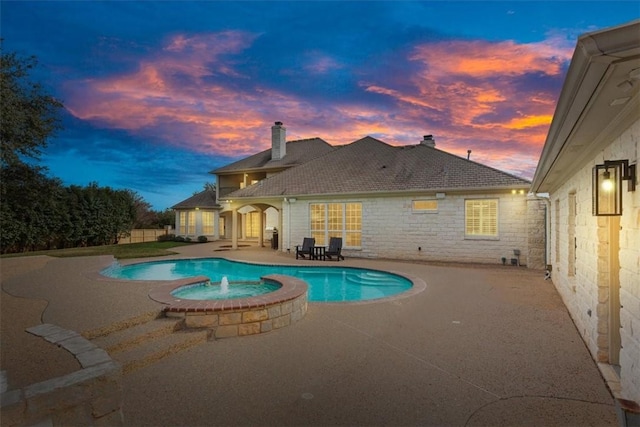
POLYGON ((218 283, 223 277, 233 282, 260 281, 262 276, 284 274, 304 280, 309 285, 311 302, 366 301, 405 292, 412 282, 400 275, 352 267, 261 265, 223 258, 153 261, 120 266, 115 264, 101 272, 116 279, 177 280, 207 276, 218 283))

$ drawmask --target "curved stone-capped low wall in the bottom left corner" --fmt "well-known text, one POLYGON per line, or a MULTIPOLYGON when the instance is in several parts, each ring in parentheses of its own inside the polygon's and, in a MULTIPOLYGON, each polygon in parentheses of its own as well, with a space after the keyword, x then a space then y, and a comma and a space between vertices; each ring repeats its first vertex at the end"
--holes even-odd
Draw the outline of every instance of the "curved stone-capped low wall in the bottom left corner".
POLYGON ((72 353, 82 369, 1 395, 3 426, 122 426, 122 368, 77 332, 52 324, 27 332, 72 353))

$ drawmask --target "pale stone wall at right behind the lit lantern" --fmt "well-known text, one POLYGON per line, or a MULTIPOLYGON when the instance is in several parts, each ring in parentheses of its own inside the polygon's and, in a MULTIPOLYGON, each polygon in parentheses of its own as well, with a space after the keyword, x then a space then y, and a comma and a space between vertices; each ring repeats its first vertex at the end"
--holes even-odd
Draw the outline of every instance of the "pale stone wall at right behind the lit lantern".
MULTIPOLYGON (((630 163, 638 164, 639 141, 640 121, 636 121, 550 194, 549 258, 553 264, 553 282, 597 362, 609 362, 609 227, 612 220, 592 215, 592 168, 605 159, 629 159, 630 163), (574 198, 575 214, 570 206, 574 198), (575 255, 569 235, 571 228, 575 230, 575 255)), ((622 195, 618 252, 621 389, 613 391, 620 393, 616 397, 640 402, 640 186, 635 192, 628 192, 624 182, 622 195)))

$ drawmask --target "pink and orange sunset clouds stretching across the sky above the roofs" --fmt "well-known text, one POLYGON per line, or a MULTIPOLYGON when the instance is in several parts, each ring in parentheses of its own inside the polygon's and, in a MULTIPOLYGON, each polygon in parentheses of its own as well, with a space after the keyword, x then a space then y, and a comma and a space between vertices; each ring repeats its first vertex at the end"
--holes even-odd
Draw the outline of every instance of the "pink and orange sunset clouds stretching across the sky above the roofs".
MULTIPOLYGON (((431 133, 445 151, 466 156, 473 149, 474 160, 508 171, 515 160, 531 176, 557 94, 531 87, 527 78, 561 78, 572 52, 551 41, 423 44, 405 58, 417 71, 407 67, 406 75, 394 75, 396 83, 384 72, 376 77, 356 70, 361 90, 384 100, 363 103, 307 100, 254 81, 244 90, 223 84, 249 81, 233 60, 256 37, 238 31, 174 35, 133 72, 69 82, 65 104, 83 120, 229 156, 267 148, 275 120, 288 126, 289 139, 319 136, 332 144, 365 135, 416 144, 431 133)), ((303 59, 311 74, 343 68, 319 52, 303 59)))

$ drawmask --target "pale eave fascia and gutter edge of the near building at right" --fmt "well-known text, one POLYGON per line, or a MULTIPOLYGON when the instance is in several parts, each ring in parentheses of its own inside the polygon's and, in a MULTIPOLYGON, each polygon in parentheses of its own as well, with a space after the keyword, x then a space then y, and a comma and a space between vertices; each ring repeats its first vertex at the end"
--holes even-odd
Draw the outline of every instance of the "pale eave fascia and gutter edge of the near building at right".
POLYGON ((639 31, 640 20, 634 20, 578 38, 532 180, 533 192, 548 191, 541 190, 543 182, 597 96, 598 88, 604 84, 612 63, 626 57, 626 51, 638 48, 639 31))

